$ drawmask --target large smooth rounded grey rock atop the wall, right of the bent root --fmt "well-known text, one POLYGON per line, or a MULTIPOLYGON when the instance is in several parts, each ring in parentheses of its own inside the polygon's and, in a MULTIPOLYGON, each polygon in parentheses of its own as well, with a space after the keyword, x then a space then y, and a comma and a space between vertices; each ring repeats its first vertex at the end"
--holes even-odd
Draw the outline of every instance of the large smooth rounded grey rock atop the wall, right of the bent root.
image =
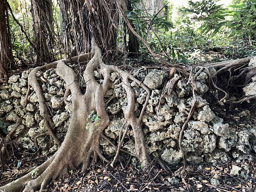
POLYGON ((163 79, 166 73, 162 70, 152 70, 145 76, 143 84, 145 84, 149 89, 154 90, 163 84, 163 79))

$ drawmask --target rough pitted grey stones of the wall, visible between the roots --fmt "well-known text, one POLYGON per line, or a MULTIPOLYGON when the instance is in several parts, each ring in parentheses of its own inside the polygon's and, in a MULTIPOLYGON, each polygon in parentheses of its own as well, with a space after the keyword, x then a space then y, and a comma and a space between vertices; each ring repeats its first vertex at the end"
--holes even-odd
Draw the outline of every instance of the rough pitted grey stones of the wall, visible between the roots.
MULTIPOLYGON (((253 63, 251 63, 253 65, 253 63)), ((13 141, 19 147, 33 151, 35 146, 33 139, 41 133, 45 133, 44 120, 38 111, 38 97, 35 93, 29 96, 29 103, 25 106, 27 91, 27 78, 30 70, 23 71, 21 76, 11 76, 8 84, 4 84, 0 90, 0 117, 3 123, 7 123, 7 131, 11 131, 17 118, 23 117, 21 125, 17 128, 13 141)), ((216 73, 216 71, 210 71, 216 73)), ((42 90, 45 101, 51 112, 51 118, 55 124, 55 134, 59 140, 63 140, 70 122, 72 113, 72 95, 67 97, 68 105, 63 102, 66 85, 59 78, 55 70, 47 70, 37 74, 43 81, 42 90), (47 81, 48 80, 48 81, 47 81)), ((94 72, 97 81, 102 81, 98 72, 94 72)), ((178 138, 181 127, 185 122, 191 108, 193 98, 191 87, 187 80, 180 79, 169 95, 162 94, 164 81, 167 79, 166 71, 150 70, 139 73, 137 76, 151 89, 151 96, 143 116, 143 132, 148 152, 154 157, 161 157, 165 162, 175 165, 180 162, 182 155, 178 148, 178 138), (160 102, 160 103, 159 103, 160 102), (158 108, 159 106, 159 108, 158 108)), ((119 79, 117 73, 111 73, 111 82, 119 79)), ((256 81, 256 78, 255 78, 256 81)), ((81 82, 84 83, 84 82, 81 82)), ((248 125, 240 131, 235 131, 232 126, 220 119, 210 108, 204 97, 209 91, 207 86, 207 74, 202 72, 196 79, 201 94, 197 95, 195 112, 184 131, 182 146, 189 163, 225 163, 230 158, 241 161, 251 158, 251 153, 256 152, 256 128, 248 125), (242 154, 242 155, 241 155, 242 154)), ((139 116, 145 102, 147 93, 137 83, 131 82, 135 94, 135 114, 139 116)), ((83 84, 81 87, 85 87, 83 84)), ((244 87, 246 96, 256 94, 256 84, 252 82, 244 87)), ((113 143, 119 137, 120 128, 125 122, 122 107, 127 105, 127 96, 122 87, 111 85, 111 89, 105 95, 105 100, 111 101, 106 110, 111 116, 111 123, 105 129, 104 134, 113 143), (114 94, 114 96, 113 96, 114 94), (111 99, 113 96, 113 99, 111 99)), ((239 116, 248 116, 250 112, 242 111, 239 116)), ((1 131, 1 130, 0 130, 1 131)), ((133 131, 129 128, 123 148, 135 154, 133 131)), ((38 139, 43 154, 56 150, 57 145, 49 136, 38 139)), ((104 154, 112 156, 115 148, 105 140, 101 140, 100 146, 104 154)), ((170 181, 172 182, 172 178, 170 181)), ((170 182, 169 181, 169 182, 170 182)), ((177 183, 178 181, 173 181, 177 183)), ((212 181, 213 182, 213 181, 212 181)))

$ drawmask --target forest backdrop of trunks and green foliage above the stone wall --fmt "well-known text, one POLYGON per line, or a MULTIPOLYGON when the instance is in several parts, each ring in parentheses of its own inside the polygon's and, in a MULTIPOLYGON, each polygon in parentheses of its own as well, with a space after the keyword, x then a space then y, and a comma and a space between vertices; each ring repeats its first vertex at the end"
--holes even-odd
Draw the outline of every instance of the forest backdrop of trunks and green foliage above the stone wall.
MULTIPOLYGON (((81 27, 86 23, 82 1, 1 0, 0 3, 0 55, 4 70, 8 68, 11 72, 17 67, 49 63, 89 51, 90 46, 85 44, 90 34, 81 27)), ((173 6, 166 0, 125 3, 126 15, 135 31, 166 60, 195 63, 204 61, 200 55, 209 51, 221 52, 228 58, 256 52, 255 0, 234 0, 227 7, 215 0, 189 1, 189 6, 180 7, 177 15, 173 15, 173 6)), ((111 27, 117 37, 109 47, 105 41, 103 54, 122 52, 141 61, 149 58, 147 48, 129 31, 123 18, 113 14, 118 25, 111 27)))

